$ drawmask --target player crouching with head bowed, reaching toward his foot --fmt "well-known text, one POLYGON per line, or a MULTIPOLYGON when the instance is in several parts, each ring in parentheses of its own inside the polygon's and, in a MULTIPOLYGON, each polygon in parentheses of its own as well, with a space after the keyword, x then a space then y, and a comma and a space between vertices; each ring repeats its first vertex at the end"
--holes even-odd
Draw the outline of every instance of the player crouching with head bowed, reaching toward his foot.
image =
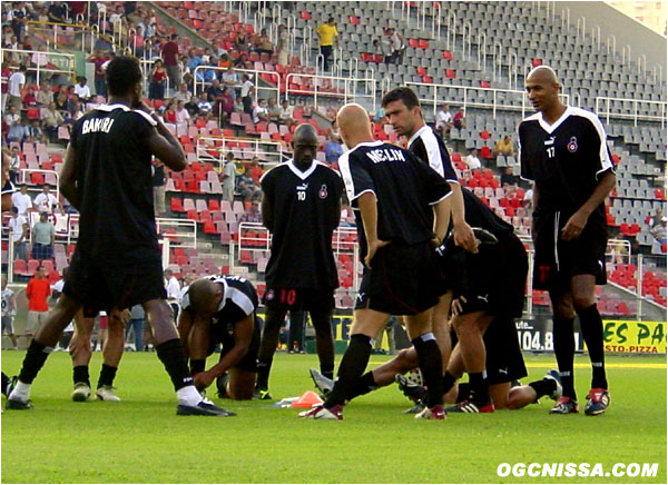
POLYGON ((219 397, 253 397, 262 331, 257 305, 253 284, 237 276, 210 276, 190 285, 181 300, 178 331, 199 390, 218 379, 219 397), (217 344, 220 359, 205 370, 217 344))

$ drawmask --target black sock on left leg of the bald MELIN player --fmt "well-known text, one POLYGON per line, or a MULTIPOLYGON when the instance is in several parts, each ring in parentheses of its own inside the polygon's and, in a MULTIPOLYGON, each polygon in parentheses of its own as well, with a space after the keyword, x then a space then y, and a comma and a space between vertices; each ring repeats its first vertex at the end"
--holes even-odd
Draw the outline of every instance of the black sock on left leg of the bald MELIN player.
POLYGON ((352 335, 348 348, 345 350, 343 359, 338 365, 338 376, 334 382, 334 388, 330 393, 327 400, 325 400, 325 407, 345 404, 348 396, 353 393, 356 380, 364 373, 370 356, 371 337, 363 334, 352 335))

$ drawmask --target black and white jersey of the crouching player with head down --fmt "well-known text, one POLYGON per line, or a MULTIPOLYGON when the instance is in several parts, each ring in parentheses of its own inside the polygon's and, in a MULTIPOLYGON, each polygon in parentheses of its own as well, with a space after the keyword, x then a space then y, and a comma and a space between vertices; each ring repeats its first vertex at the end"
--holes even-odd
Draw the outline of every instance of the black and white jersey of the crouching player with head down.
MULTIPOLYGON (((207 279, 223 287, 223 299, 212 317, 212 324, 225 325, 227 330, 233 334, 234 325, 253 315, 259 305, 255 287, 246 278, 239 276, 209 276, 207 279)), ((181 298, 181 308, 185 311, 191 311, 188 291, 181 298)))

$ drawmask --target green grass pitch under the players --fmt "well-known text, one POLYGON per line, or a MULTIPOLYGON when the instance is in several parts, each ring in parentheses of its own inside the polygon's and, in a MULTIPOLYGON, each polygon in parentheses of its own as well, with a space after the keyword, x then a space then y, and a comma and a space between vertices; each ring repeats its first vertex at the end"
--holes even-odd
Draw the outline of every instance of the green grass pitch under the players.
MULTIPOLYGON (((3 352, 14 374, 22 352, 3 352)), ((97 382, 101 356, 91 363, 97 382)), ((372 357, 375 367, 384 357, 372 357)), ((529 379, 554 365, 527 357, 529 379)), ((128 353, 122 403, 72 403, 71 365, 53 354, 32 389, 35 408, 2 415, 3 483, 666 483, 666 358, 609 357, 611 406, 599 417, 550 416, 548 398, 522 410, 418 422, 395 386, 345 408, 343 422, 297 418, 273 402, 232 403, 230 418, 177 417, 155 354, 128 353), (659 463, 654 478, 500 478, 501 463, 659 463)), ((312 389, 312 355, 274 360, 275 398, 312 389)), ((529 382, 524 379, 524 382, 529 382)), ((587 357, 576 368, 581 407, 587 357)), ((213 393, 209 393, 213 394, 213 393)), ((4 400, 4 399, 3 399, 4 400)))

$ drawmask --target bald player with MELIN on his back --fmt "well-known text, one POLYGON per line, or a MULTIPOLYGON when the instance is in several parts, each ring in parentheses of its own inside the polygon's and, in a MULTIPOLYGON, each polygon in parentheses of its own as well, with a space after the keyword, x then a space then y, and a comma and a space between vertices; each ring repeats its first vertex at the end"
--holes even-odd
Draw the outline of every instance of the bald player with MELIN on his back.
POLYGON ((373 339, 391 315, 406 315, 429 389, 429 407, 416 417, 443 419, 442 357, 432 333, 442 278, 433 244, 445 236, 450 187, 410 151, 374 141, 361 106, 344 106, 336 120, 345 145, 352 147, 338 165, 356 211, 364 274, 334 388, 322 406, 301 416, 343 419, 343 405, 366 368, 373 339))

